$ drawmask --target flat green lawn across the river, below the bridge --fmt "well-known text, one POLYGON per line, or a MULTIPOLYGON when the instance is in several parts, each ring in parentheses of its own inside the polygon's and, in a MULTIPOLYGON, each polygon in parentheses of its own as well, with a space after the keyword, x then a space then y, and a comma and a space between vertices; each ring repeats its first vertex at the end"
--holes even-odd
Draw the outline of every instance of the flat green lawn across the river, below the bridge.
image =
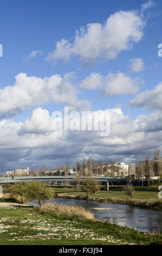
MULTIPOLYGON (((52 187, 51 190, 54 190, 55 193, 65 193, 64 187, 52 187)), ((144 200, 161 200, 158 198, 158 188, 153 187, 148 189, 148 187, 135 187, 135 191, 133 193, 134 199, 144 199, 144 200)), ((67 187, 67 194, 74 194, 78 195, 78 192, 76 191, 76 188, 73 187, 67 187)), ((80 196, 85 196, 84 192, 80 192, 80 196)), ((109 191, 105 191, 104 187, 101 188, 101 190, 97 191, 95 193, 95 197, 114 197, 114 198, 120 198, 120 199, 128 199, 128 197, 124 194, 122 191, 122 187, 109 187, 109 191)))

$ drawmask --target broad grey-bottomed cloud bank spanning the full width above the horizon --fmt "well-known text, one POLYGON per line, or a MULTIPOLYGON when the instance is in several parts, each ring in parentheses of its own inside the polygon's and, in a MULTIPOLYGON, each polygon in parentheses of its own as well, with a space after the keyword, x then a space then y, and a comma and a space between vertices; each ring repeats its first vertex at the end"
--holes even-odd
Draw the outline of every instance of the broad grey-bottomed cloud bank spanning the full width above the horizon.
POLYGON ((161 148, 160 111, 139 115, 135 120, 124 115, 121 108, 110 109, 110 112, 108 137, 99 136, 98 131, 53 131, 52 117, 42 108, 35 109, 24 123, 0 121, 1 165, 5 164, 5 168, 33 164, 38 164, 38 168, 40 165, 51 167, 58 163, 73 164, 84 157, 104 162, 131 162, 130 159, 144 159, 146 154, 152 156, 154 148, 161 148))

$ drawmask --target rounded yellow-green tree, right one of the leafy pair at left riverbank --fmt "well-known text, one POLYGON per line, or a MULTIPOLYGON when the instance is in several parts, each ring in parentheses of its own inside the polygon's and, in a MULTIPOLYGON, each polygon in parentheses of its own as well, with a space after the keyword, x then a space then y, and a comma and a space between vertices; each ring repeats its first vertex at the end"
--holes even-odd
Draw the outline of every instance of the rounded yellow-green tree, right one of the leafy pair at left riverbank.
POLYGON ((53 194, 47 187, 45 182, 32 181, 28 182, 26 190, 26 198, 30 201, 38 200, 39 205, 43 200, 52 198, 53 194))

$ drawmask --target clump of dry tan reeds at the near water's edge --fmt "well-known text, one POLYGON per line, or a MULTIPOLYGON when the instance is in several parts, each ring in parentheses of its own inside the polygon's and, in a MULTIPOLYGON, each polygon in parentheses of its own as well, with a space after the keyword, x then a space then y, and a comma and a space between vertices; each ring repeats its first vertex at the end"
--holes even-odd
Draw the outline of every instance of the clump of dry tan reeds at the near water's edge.
POLYGON ((90 211, 84 209, 82 206, 76 205, 46 202, 41 205, 40 211, 54 214, 55 216, 86 218, 88 220, 94 219, 94 215, 90 211))

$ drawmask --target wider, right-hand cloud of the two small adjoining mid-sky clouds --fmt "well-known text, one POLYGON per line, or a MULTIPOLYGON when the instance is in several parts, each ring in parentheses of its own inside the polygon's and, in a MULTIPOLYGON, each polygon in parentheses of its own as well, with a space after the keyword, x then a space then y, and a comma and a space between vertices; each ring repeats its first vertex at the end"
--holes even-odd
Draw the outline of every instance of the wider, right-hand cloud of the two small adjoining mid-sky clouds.
POLYGON ((138 81, 123 73, 109 74, 104 80, 104 94, 115 96, 122 94, 135 94, 139 90, 138 81))

